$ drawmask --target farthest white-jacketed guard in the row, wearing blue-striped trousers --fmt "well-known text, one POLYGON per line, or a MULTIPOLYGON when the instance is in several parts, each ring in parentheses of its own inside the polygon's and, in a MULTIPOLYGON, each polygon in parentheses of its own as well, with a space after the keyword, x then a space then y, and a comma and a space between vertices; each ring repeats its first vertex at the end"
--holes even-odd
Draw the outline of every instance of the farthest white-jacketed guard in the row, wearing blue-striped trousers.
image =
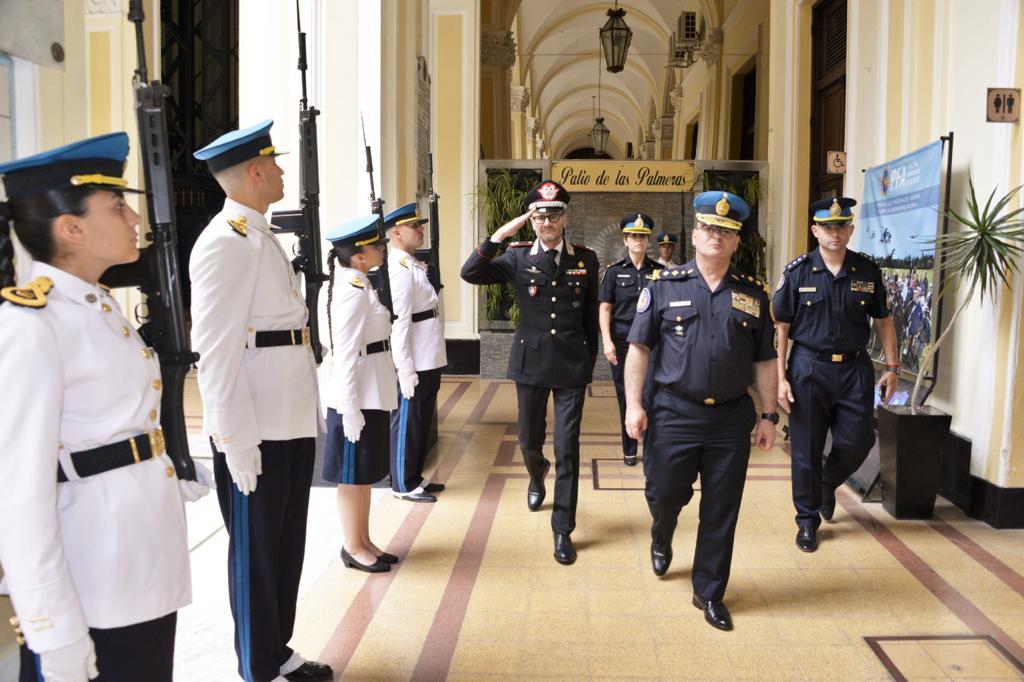
POLYGON ((436 502, 434 495, 444 489, 444 483, 423 477, 427 434, 437 408, 441 370, 447 365, 440 300, 427 279, 426 264, 416 259, 427 222, 415 203, 384 217, 391 242, 388 273, 395 316, 391 355, 401 392, 398 409, 391 412, 391 491, 399 500, 413 502, 436 502))

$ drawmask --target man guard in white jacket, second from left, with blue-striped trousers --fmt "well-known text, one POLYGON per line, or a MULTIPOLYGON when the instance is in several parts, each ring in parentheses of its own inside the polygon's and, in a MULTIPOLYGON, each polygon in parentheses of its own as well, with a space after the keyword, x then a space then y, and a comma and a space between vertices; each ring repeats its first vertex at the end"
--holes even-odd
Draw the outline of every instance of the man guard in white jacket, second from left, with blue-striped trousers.
POLYGON ((265 217, 285 196, 272 125, 229 132, 194 155, 227 199, 191 252, 191 341, 230 538, 239 674, 329 680, 330 667, 288 646, 323 419, 301 282, 265 217))

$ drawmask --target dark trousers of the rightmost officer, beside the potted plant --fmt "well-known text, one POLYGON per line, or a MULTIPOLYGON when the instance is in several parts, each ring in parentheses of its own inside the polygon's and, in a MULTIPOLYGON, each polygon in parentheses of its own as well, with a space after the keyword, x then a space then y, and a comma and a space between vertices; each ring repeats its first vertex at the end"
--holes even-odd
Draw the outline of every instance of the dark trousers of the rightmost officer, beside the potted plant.
POLYGON ((821 486, 842 485, 874 444, 874 372, 866 355, 829 363, 794 348, 786 378, 796 398, 790 413, 793 505, 797 525, 816 528, 821 486), (829 431, 831 452, 822 466, 829 431))

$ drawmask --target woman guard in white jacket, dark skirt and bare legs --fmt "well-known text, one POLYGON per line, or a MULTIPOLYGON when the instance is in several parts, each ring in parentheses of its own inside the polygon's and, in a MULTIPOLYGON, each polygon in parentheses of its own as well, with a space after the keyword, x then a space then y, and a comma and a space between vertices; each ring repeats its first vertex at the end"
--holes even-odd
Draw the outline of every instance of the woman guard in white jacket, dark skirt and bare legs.
POLYGON ((342 561, 379 573, 391 570, 398 558, 370 540, 370 486, 388 472, 390 413, 398 407, 398 391, 391 313, 367 272, 384 262, 387 240, 380 237, 376 215, 349 220, 327 240, 333 247, 328 257, 332 370, 323 476, 338 483, 342 561))

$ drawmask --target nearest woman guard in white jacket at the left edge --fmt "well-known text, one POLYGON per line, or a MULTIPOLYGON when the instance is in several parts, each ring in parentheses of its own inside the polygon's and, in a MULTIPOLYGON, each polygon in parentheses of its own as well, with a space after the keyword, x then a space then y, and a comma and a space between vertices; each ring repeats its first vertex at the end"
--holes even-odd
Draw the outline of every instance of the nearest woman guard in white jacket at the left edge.
POLYGON ((159 358, 98 284, 139 256, 127 156, 112 133, 0 165, 0 563, 26 682, 170 682, 191 600, 182 497, 212 476, 176 478, 159 358))

